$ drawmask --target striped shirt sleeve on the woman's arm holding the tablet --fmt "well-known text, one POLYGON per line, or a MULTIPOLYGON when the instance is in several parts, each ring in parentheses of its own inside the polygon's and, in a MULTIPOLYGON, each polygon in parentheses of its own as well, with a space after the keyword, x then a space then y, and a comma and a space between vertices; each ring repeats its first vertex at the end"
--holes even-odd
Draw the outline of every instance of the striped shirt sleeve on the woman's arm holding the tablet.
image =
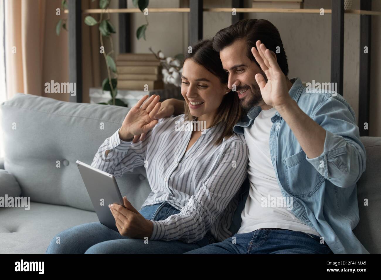
POLYGON ((163 221, 152 221, 151 240, 201 240, 227 207, 247 176, 248 149, 244 142, 231 141, 211 168, 210 176, 198 182, 195 193, 180 213, 163 221))

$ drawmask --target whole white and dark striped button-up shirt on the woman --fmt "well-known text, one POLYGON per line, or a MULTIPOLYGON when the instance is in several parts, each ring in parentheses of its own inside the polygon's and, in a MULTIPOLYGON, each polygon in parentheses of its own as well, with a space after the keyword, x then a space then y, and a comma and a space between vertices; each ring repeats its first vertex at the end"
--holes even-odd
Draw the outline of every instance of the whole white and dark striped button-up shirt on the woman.
POLYGON ((211 230, 219 242, 232 236, 229 227, 247 176, 248 148, 237 134, 215 145, 221 131, 216 125, 202 131, 185 152, 192 131, 184 123, 178 129, 184 118, 160 119, 137 143, 121 140, 118 129, 101 144, 91 166, 115 177, 144 166, 151 192, 142 207, 168 202, 180 210, 163 221, 152 221, 150 240, 193 243, 211 230))

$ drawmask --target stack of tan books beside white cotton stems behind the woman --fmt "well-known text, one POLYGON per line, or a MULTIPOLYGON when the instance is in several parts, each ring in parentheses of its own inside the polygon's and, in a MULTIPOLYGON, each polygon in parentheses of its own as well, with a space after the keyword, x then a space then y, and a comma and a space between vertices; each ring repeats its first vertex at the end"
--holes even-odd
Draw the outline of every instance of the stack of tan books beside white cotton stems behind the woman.
POLYGON ((160 61, 151 53, 121 53, 117 56, 118 89, 158 90, 164 88, 160 61))

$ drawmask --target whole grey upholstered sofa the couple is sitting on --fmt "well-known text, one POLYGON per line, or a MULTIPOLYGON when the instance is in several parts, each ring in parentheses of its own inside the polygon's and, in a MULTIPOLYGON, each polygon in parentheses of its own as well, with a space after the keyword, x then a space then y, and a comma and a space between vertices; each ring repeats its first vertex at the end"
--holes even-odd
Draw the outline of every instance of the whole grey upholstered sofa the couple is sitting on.
MULTIPOLYGON (((0 104, 5 144, 0 197, 31 200, 30 210, 0 208, 0 253, 45 253, 58 232, 98 221, 75 162, 91 164, 100 144, 120 127, 127 112, 125 107, 22 93, 0 104)), ((360 222, 354 232, 370 253, 381 253, 381 138, 362 141, 367 170, 358 182, 360 222)), ((144 168, 124 174, 117 182, 122 195, 140 209, 150 192, 144 168)), ((233 233, 240 226, 246 195, 235 211, 233 233)))

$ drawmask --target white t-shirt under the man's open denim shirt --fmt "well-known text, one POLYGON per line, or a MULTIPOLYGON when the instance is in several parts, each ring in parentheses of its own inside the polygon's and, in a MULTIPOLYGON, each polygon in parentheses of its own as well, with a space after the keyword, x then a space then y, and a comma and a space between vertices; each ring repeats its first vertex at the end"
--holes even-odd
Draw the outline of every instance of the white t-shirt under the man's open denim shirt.
POLYGON ((245 140, 249 148, 249 195, 242 211, 239 234, 256 229, 280 228, 320 234, 300 221, 291 212, 293 201, 284 198, 280 191, 274 166, 271 162, 269 138, 271 117, 275 108, 261 110, 251 127, 245 127, 245 140))

